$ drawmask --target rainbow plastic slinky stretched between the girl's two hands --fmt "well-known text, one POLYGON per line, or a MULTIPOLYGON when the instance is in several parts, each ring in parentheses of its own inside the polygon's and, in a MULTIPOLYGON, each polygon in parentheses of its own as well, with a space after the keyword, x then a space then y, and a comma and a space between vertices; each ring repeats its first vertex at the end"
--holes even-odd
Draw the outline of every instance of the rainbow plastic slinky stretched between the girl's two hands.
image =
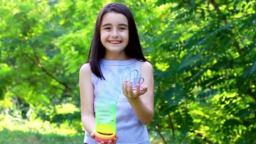
MULTIPOLYGON (((129 67, 126 67, 122 70, 122 73, 121 80, 115 82, 111 80, 105 81, 105 85, 102 86, 104 93, 99 93, 99 98, 96 100, 95 139, 98 142, 104 141, 104 144, 115 139, 117 100, 122 93, 123 81, 127 79, 128 82, 132 81, 133 90, 136 90, 136 84, 144 82, 144 78, 138 77, 139 74, 136 69, 131 70, 129 67)), ((111 75, 118 76, 120 73, 118 74, 117 70, 117 72, 113 72, 111 75)), ((144 90, 144 88, 140 88, 140 90, 144 90)))

